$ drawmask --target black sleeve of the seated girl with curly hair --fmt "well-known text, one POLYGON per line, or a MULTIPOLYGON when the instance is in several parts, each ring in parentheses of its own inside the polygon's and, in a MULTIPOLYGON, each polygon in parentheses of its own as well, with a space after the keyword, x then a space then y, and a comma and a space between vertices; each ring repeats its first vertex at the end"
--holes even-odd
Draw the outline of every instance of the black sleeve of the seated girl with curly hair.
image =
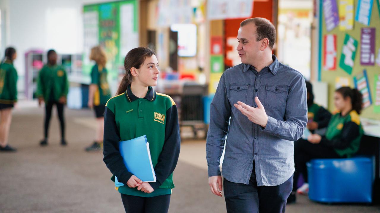
POLYGON ((321 144, 335 149, 345 149, 350 146, 353 139, 359 136, 359 125, 355 122, 347 122, 342 128, 342 133, 340 137, 329 140, 326 136, 323 136, 321 139, 321 144))

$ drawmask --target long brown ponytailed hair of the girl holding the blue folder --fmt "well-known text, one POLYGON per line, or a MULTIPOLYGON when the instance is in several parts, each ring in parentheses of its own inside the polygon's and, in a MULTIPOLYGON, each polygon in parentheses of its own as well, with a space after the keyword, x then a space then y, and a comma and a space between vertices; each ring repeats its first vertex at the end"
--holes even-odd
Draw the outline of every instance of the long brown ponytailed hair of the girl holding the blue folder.
POLYGON ((146 47, 137 47, 131 49, 124 59, 124 69, 125 75, 120 82, 119 88, 117 89, 116 95, 122 94, 127 90, 128 85, 132 83, 131 68, 135 67, 140 69, 140 66, 144 63, 147 57, 152 57, 154 55, 154 50, 146 47))

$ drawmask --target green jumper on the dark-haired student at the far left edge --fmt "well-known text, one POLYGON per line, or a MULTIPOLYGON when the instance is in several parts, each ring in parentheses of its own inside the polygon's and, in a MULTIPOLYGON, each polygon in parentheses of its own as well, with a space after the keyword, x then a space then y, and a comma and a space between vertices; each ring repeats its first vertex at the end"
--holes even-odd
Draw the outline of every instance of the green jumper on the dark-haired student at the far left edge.
POLYGON ((0 103, 17 102, 17 71, 12 61, 0 64, 0 103))

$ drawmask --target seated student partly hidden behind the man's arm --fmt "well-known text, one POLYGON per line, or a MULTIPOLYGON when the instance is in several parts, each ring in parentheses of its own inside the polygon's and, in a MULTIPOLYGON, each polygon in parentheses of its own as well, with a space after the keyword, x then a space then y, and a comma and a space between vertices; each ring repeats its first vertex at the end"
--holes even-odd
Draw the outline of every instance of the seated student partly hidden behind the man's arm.
MULTIPOLYGON (((307 91, 307 124, 306 128, 312 133, 318 133, 319 135, 324 135, 326 127, 329 124, 331 113, 323 108, 322 106, 314 103, 313 87, 309 81, 306 81, 306 91, 307 91)), ((303 138, 294 141, 294 150, 298 149, 299 144, 307 143, 303 138)), ((307 176, 307 171, 302 171, 303 177, 307 176)), ((294 172, 295 176, 299 176, 299 171, 294 172)), ((306 195, 309 192, 309 184, 304 183, 301 187, 297 189, 298 183, 293 182, 293 193, 306 195)))

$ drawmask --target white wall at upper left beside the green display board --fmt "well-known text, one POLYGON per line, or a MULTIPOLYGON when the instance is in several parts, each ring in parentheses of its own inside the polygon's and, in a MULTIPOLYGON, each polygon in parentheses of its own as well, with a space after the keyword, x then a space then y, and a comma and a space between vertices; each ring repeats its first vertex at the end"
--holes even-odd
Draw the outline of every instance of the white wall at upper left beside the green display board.
MULTIPOLYGON (((19 81, 25 75, 24 53, 30 49, 55 49, 59 53, 83 52, 83 5, 112 0, 0 0, 7 15, 6 46, 17 50, 14 66, 19 81)), ((0 57, 5 47, 1 47, 0 57)), ((23 86, 23 83, 18 85, 23 86)), ((23 90, 23 88, 20 88, 23 90)))

